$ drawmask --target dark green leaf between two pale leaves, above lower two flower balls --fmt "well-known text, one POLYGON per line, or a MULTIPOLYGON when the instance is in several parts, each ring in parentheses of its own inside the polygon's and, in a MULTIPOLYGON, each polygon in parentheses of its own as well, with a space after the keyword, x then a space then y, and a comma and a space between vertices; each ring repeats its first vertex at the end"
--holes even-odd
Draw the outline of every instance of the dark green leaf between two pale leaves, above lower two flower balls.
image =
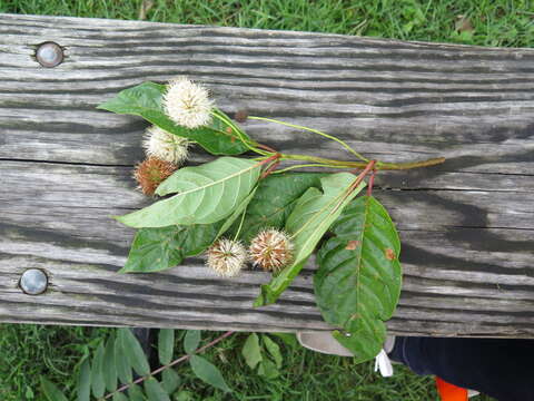
MULTIPOLYGON (((250 242, 263 228, 283 228, 297 199, 309 187, 320 187, 324 174, 287 173, 261 179, 245 214, 239 237, 250 242)), ((236 223, 230 233, 237 232, 236 223)))

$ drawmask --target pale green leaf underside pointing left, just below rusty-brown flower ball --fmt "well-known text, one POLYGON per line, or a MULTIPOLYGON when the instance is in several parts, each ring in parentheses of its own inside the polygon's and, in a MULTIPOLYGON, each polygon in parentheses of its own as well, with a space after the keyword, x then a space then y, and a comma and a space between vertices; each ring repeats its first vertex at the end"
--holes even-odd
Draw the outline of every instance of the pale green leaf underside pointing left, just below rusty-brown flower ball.
POLYGON ((159 195, 177 195, 117 219, 137 228, 216 223, 250 194, 260 169, 259 163, 236 157, 180 168, 157 189, 159 195))

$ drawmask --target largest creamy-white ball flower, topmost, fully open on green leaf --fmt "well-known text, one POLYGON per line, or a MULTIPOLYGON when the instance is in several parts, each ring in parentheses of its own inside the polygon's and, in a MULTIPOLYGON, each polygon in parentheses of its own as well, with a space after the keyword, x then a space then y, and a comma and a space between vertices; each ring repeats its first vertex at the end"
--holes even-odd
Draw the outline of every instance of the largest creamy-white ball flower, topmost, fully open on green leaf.
POLYGON ((211 121, 214 102, 206 88, 186 77, 174 79, 167 86, 164 107, 172 121, 187 128, 197 128, 211 121))

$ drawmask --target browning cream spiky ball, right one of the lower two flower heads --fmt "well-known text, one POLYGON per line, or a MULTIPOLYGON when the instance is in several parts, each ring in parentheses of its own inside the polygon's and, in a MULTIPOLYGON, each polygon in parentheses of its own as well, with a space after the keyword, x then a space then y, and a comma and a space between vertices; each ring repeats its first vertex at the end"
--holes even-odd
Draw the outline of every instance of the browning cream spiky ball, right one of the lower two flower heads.
POLYGON ((255 265, 276 273, 291 263, 293 244, 286 233, 268 228, 250 242, 248 253, 255 265))

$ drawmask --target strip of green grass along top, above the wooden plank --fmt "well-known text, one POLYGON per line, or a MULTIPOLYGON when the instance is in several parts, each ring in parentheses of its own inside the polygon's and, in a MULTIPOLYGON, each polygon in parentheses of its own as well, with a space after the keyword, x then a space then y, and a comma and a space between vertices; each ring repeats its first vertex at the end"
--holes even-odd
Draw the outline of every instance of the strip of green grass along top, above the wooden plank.
MULTIPOLYGON (((137 19, 141 0, 0 0, 0 11, 137 19)), ((530 0, 155 0, 147 20, 362 35, 404 40, 528 47, 530 0), (456 30, 458 16, 473 31, 456 30)))

